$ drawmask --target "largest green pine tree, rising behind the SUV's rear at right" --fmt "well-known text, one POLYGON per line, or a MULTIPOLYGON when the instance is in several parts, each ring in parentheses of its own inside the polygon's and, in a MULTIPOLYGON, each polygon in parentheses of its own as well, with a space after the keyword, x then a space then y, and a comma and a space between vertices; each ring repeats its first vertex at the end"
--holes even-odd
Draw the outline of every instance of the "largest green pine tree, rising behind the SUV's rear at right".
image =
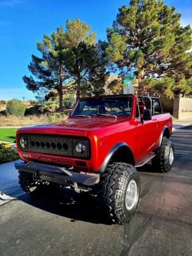
POLYGON ((168 77, 172 86, 164 84, 163 93, 171 97, 183 91, 192 76, 191 27, 180 25, 181 15, 175 10, 163 1, 131 0, 107 29, 108 57, 122 75, 135 68, 139 91, 160 87, 161 79, 168 77))

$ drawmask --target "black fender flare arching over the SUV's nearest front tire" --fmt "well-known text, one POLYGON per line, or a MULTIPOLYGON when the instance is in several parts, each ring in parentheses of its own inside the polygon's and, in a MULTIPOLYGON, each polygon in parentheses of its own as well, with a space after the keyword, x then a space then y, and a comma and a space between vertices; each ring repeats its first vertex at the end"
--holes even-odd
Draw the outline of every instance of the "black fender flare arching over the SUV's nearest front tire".
POLYGON ((129 149, 130 153, 132 154, 133 157, 133 161, 135 163, 135 158, 134 155, 132 153, 132 150, 130 149, 129 145, 127 145, 127 143, 121 141, 117 144, 115 144, 110 151, 108 152, 107 156, 104 159, 104 162, 102 163, 102 165, 100 166, 100 168, 98 169, 98 171, 96 171, 96 173, 102 173, 105 171, 105 169, 107 168, 108 163, 110 162, 111 158, 113 157, 113 155, 120 149, 120 148, 127 148, 129 149))

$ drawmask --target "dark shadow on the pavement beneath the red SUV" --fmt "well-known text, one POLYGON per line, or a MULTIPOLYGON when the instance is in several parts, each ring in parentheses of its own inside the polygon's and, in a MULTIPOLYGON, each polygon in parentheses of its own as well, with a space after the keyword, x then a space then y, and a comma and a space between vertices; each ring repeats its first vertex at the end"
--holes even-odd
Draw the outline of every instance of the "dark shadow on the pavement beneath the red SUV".
MULTIPOLYGON (((138 168, 138 171, 155 173, 151 165, 138 168)), ((77 193, 74 190, 60 188, 59 186, 55 188, 45 187, 42 194, 38 196, 24 194, 19 199, 46 212, 69 218, 72 222, 85 221, 96 224, 112 224, 107 218, 104 218, 105 215, 99 208, 96 196, 91 194, 90 191, 77 193)))

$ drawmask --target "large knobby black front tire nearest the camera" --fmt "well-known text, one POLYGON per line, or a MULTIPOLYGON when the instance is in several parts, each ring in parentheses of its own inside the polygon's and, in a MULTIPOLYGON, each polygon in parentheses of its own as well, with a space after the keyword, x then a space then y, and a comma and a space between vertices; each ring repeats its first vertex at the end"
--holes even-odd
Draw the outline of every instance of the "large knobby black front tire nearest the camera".
POLYGON ((101 174, 98 199, 105 213, 113 223, 124 224, 132 219, 140 202, 140 176, 134 166, 127 163, 112 163, 101 174), (129 185, 130 183, 130 185, 129 185), (137 198, 128 210, 126 192, 132 185, 137 187, 137 198))

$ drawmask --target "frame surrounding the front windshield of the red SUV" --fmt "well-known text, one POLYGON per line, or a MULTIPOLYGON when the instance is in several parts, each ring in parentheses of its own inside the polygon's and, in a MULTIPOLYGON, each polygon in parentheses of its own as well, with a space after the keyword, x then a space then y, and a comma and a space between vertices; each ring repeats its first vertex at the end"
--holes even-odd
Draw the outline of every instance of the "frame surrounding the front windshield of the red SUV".
MULTIPOLYGON (((74 105, 74 108, 71 112, 70 118, 77 118, 74 115, 74 112, 76 111, 77 105, 79 104, 80 101, 85 101, 87 99, 110 99, 110 98, 132 98, 132 109, 129 115, 127 116, 115 116, 115 115, 95 115, 91 116, 91 118, 105 118, 105 117, 115 117, 115 118, 130 118, 130 116, 133 113, 133 95, 132 94, 118 94, 118 95, 102 95, 102 96, 94 96, 94 97, 86 97, 86 98, 80 98, 79 101, 76 102, 76 105, 74 105)), ((78 115, 77 115, 78 116, 78 115)), ((80 117, 80 116, 79 116, 80 117)), ((84 116, 86 118, 86 115, 84 116)), ((87 116, 87 118, 90 118, 90 116, 87 116)))

